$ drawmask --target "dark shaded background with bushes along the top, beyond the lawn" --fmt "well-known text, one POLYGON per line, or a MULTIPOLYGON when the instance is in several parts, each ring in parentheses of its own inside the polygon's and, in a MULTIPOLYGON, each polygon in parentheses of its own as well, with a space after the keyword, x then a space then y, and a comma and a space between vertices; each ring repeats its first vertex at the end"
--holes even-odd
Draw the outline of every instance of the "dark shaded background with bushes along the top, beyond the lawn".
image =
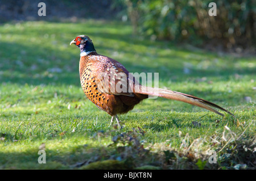
POLYGON ((129 20, 133 33, 151 40, 168 40, 214 50, 249 49, 255 53, 256 6, 253 0, 216 1, 217 16, 209 16, 212 0, 43 1, 47 17, 37 16, 36 0, 0 2, 0 22, 9 20, 129 20))

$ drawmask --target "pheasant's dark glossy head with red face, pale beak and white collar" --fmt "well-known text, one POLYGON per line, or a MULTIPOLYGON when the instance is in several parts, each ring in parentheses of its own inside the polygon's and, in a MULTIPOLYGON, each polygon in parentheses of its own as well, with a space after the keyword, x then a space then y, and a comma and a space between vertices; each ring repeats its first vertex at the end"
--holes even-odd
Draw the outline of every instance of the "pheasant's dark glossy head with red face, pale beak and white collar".
POLYGON ((71 41, 70 45, 72 44, 76 44, 77 47, 80 48, 81 56, 85 56, 91 52, 96 52, 92 40, 86 35, 77 36, 71 41))

